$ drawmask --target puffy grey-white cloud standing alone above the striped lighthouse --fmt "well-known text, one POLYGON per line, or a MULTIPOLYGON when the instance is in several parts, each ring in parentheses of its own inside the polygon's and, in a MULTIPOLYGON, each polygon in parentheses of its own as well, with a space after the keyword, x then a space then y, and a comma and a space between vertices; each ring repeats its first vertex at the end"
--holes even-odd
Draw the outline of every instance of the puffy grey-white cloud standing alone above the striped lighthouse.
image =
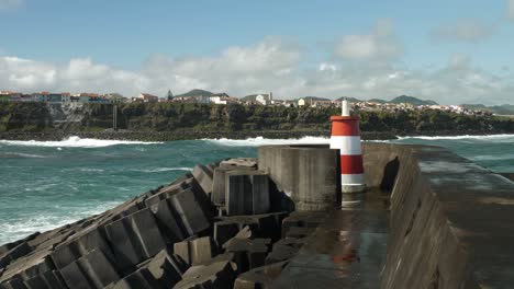
POLYGON ((392 20, 379 20, 371 33, 344 36, 335 55, 343 59, 389 61, 403 54, 403 46, 394 35, 392 20))

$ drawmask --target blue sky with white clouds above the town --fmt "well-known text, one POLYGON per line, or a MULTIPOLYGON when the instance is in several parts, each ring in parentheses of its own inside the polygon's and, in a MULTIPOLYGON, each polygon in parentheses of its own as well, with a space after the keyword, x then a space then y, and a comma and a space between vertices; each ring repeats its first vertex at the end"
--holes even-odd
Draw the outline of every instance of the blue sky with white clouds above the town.
POLYGON ((514 103, 514 1, 0 0, 0 90, 514 103))

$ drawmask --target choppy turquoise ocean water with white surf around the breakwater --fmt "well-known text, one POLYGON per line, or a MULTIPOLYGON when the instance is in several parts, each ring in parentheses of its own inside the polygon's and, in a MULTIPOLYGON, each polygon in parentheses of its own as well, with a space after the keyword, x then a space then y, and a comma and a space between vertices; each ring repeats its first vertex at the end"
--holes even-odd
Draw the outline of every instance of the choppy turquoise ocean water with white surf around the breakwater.
MULTIPOLYGON (((256 157, 260 144, 328 138, 137 142, 0 140, 0 244, 102 212, 224 158, 256 157)), ((447 147, 495 172, 514 172, 514 135, 416 137, 394 142, 447 147)))

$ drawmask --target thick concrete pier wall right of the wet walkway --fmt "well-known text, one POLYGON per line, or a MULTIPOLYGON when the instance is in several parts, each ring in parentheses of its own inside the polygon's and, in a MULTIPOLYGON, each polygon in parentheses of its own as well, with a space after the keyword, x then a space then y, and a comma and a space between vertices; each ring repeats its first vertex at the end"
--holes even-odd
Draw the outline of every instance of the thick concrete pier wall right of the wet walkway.
POLYGON ((443 148, 367 144, 369 184, 394 160, 382 288, 509 288, 514 183, 443 148))

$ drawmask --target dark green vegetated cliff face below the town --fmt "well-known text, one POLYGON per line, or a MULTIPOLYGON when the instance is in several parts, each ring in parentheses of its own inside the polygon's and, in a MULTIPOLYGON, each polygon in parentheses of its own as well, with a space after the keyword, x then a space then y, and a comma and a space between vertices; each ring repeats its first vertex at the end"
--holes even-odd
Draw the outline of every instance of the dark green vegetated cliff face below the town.
MULTIPOLYGON (((79 123, 57 124, 42 103, 0 103, 0 132, 101 131, 112 127, 111 104, 85 104, 79 123)), ((119 104, 118 127, 131 131, 327 131, 339 108, 204 105, 194 103, 119 104)), ((514 119, 442 111, 360 112, 362 131, 395 135, 514 132, 514 119)))

